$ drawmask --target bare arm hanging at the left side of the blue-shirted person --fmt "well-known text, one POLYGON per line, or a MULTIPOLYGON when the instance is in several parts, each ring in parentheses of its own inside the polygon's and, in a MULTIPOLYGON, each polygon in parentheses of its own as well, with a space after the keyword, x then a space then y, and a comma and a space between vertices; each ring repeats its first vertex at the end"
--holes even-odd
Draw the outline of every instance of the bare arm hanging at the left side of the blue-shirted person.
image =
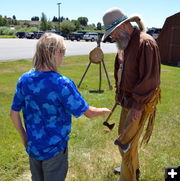
POLYGON ((22 125, 22 121, 21 121, 19 112, 11 110, 10 117, 12 119, 12 122, 13 122, 15 128, 17 129, 17 131, 19 132, 19 134, 21 136, 24 147, 26 148, 26 146, 27 146, 26 131, 22 125))

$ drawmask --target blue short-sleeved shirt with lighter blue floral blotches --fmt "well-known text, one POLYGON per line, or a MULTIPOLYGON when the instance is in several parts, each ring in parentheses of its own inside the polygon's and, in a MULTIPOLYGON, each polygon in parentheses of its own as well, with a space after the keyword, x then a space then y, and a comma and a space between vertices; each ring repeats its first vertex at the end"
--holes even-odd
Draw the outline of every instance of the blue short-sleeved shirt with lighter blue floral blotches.
POLYGON ((27 153, 47 160, 67 147, 72 115, 79 117, 88 107, 71 79, 30 70, 19 78, 11 108, 23 112, 27 153))

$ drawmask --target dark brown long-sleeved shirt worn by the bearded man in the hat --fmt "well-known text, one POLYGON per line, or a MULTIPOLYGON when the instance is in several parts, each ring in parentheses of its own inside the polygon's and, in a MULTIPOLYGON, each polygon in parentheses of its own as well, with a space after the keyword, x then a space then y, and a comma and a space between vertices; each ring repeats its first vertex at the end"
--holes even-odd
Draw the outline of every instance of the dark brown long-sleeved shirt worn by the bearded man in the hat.
POLYGON ((160 84, 160 54, 156 41, 145 32, 134 29, 128 47, 115 59, 116 100, 127 109, 143 110, 160 84), (123 61, 119 88, 117 72, 123 61))

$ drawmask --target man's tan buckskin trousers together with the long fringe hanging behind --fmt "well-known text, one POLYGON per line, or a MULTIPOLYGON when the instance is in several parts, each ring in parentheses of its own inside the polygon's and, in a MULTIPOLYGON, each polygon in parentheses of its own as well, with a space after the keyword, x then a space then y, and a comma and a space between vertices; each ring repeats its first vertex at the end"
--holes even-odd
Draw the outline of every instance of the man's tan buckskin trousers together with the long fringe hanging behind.
POLYGON ((141 144, 148 143, 156 115, 156 105, 161 99, 161 89, 156 88, 149 103, 145 105, 145 109, 142 112, 141 118, 136 121, 132 121, 130 110, 122 107, 121 116, 119 121, 119 141, 122 144, 131 144, 130 149, 124 153, 119 147, 119 151, 122 156, 121 163, 121 175, 119 181, 136 181, 136 170, 139 169, 139 158, 138 158, 138 141, 143 132, 146 121, 147 128, 142 138, 141 144))

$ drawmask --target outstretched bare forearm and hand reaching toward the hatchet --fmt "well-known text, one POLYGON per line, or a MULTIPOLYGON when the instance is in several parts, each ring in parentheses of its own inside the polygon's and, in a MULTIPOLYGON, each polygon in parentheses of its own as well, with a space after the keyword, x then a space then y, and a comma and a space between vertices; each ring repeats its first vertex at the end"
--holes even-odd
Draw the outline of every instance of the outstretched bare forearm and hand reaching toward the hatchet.
POLYGON ((84 115, 87 118, 93 118, 93 117, 96 117, 96 116, 103 116, 106 113, 110 113, 110 112, 111 112, 111 110, 109 110, 107 108, 96 108, 96 107, 89 106, 89 108, 84 113, 84 115))

